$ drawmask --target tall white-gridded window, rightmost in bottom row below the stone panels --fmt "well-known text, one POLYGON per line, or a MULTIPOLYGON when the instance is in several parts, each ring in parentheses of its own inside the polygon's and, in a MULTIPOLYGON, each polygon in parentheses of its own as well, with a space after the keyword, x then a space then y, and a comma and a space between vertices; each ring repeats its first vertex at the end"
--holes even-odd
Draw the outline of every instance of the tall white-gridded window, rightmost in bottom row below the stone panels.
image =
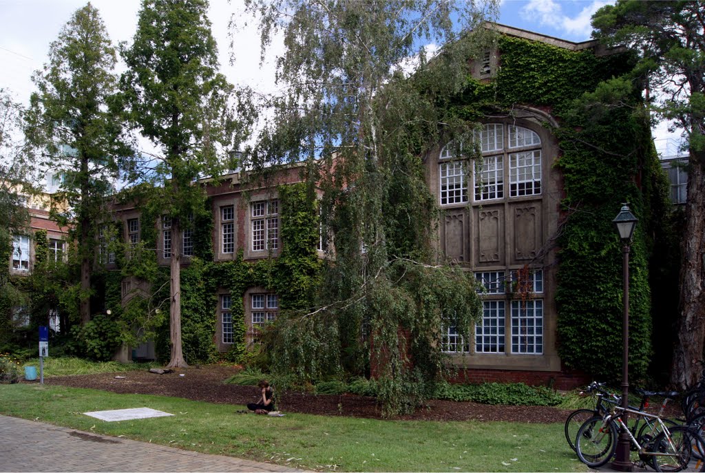
POLYGON ((542 355, 544 352, 544 301, 512 301, 512 352, 542 355))

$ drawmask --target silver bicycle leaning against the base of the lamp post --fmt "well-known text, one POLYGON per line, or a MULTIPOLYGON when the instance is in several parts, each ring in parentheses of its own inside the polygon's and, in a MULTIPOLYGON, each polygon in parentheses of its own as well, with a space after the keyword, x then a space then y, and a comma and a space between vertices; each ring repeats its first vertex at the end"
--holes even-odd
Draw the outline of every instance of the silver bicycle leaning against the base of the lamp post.
POLYGON ((664 400, 658 414, 615 405, 607 416, 595 416, 585 422, 575 438, 580 461, 591 468, 604 465, 615 453, 620 429, 625 429, 643 465, 648 465, 657 472, 679 472, 687 467, 694 450, 699 453, 705 451, 705 441, 689 426, 666 426, 661 419, 661 412, 668 398, 672 398, 674 393, 668 394, 670 395, 664 400), (639 430, 644 431, 645 426, 650 424, 648 433, 635 436, 622 419, 624 412, 636 416, 637 420, 651 419, 655 422, 646 423, 639 430))

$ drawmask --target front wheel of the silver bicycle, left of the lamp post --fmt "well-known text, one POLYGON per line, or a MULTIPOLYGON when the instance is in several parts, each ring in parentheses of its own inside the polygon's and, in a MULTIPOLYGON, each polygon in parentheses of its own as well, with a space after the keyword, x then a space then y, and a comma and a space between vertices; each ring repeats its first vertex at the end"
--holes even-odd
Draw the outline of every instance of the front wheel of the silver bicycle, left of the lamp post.
POLYGON ((617 424, 599 416, 588 419, 582 424, 575 436, 577 457, 585 465, 597 468, 610 460, 617 448, 617 424))

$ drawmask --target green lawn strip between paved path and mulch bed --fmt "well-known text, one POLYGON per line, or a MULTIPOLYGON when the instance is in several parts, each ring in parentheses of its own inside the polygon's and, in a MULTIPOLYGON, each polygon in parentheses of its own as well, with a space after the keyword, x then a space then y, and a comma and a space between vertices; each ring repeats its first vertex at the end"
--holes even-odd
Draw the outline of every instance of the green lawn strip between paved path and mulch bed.
MULTIPOLYGON (((0 414, 140 441, 345 472, 587 471, 563 424, 409 422, 236 414, 216 405, 39 384, 1 384, 0 414), (104 422, 82 412, 152 407, 173 417, 104 422)), ((530 407, 527 407, 530 409, 530 407)))

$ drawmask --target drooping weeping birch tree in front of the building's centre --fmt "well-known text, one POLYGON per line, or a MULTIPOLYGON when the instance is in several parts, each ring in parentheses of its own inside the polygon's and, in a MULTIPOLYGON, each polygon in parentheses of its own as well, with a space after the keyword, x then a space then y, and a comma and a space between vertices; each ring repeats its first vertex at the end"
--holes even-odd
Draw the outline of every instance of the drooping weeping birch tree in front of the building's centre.
POLYGON ((319 309, 280 324, 276 368, 309 378, 372 371, 384 384, 386 412, 412 409, 443 371, 443 329, 467 336, 479 314, 472 278, 434 262, 437 214, 422 156, 442 137, 469 132, 472 123, 446 105, 465 85, 468 59, 487 45, 480 25, 496 5, 248 6, 259 18, 263 54, 283 35, 277 80, 286 90, 268 97, 274 119, 251 164, 305 161, 308 182, 323 194, 331 249, 319 309), (428 42, 436 48, 422 46, 428 42))

